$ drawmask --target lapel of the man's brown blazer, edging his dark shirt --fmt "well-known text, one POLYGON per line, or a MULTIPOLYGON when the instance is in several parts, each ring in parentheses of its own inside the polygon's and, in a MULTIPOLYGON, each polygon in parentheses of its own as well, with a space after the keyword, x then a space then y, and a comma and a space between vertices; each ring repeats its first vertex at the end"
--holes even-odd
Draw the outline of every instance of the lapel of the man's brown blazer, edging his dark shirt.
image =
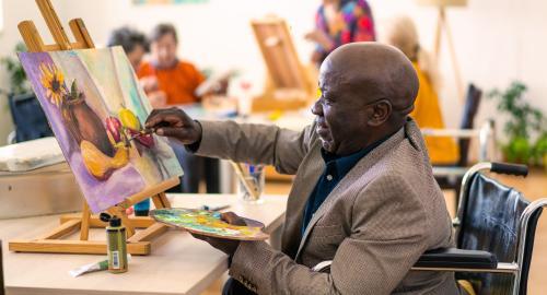
POLYGON ((327 199, 321 204, 315 214, 312 216, 310 224, 307 225, 302 239, 300 240, 300 246, 296 251, 294 260, 298 260, 302 250, 305 246, 305 243, 312 232, 313 227, 321 220, 321 217, 328 212, 330 205, 336 201, 336 196, 339 196, 342 191, 348 189, 350 186, 359 182, 361 186, 365 186, 372 178, 372 175, 369 175, 366 172, 372 167, 377 161, 383 157, 387 152, 389 152, 394 146, 398 145, 400 141, 405 138, 404 128, 397 131, 394 135, 392 135, 384 143, 380 144, 376 149, 361 158, 357 165, 344 177, 340 182, 333 189, 333 191, 327 196, 327 199), (359 180, 359 181, 358 181, 359 180))

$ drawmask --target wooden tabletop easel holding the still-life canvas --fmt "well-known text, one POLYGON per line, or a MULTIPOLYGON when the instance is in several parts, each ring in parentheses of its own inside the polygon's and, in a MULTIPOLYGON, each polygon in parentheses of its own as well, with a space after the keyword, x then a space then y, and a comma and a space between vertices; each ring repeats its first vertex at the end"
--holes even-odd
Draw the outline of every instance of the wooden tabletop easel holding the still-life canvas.
MULTIPOLYGON (((39 52, 95 47, 81 19, 74 19, 69 22, 70 30, 75 38, 75 43, 70 43, 50 0, 36 0, 36 3, 56 44, 45 45, 34 23, 32 21, 23 21, 19 24, 19 31, 23 36, 28 51, 39 52)), ((167 226, 156 223, 150 217, 129 217, 126 214, 126 209, 150 196, 152 196, 155 208, 170 208, 171 205, 164 191, 177 184, 179 184, 178 177, 167 179, 153 188, 127 198, 124 202, 107 210, 110 214, 119 216, 126 226, 127 250, 129 253, 150 255, 150 241, 154 237, 165 233, 167 226), (136 233, 136 228, 144 229, 136 233)), ((10 250, 21 252, 106 253, 106 241, 89 240, 90 227, 105 227, 106 224, 98 216, 91 214, 86 202, 84 202, 81 214, 63 215, 60 219, 60 223, 59 227, 35 239, 10 241, 10 250), (80 229, 80 239, 60 239, 78 229, 80 229)))

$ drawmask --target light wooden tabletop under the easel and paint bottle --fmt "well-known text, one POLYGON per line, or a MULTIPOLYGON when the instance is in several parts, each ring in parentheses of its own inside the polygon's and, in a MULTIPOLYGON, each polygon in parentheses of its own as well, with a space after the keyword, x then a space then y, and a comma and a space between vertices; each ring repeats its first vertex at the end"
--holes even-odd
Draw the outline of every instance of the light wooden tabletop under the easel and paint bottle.
MULTIPOLYGON (((243 203, 234 194, 168 194, 173 206, 198 208, 202 204, 230 204, 229 211, 261 221, 271 233, 282 224, 286 196, 264 196, 261 204, 243 203)), ((102 260, 92 255, 45 255, 8 251, 8 240, 32 238, 58 224, 59 215, 0 221, 8 295, 38 294, 200 294, 228 270, 226 256, 188 233, 172 229, 154 239, 152 255, 133 256, 129 271, 106 271, 79 278, 69 270, 102 260)), ((93 229, 91 238, 105 236, 93 229)))

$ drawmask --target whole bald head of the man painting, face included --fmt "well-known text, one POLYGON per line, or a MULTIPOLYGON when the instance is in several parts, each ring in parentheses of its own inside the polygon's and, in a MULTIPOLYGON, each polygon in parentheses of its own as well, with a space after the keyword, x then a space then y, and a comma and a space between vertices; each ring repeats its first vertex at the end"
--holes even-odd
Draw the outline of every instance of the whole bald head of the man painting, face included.
POLYGON ((418 76, 395 47, 352 43, 321 66, 322 96, 314 104, 323 148, 347 155, 399 130, 414 108, 418 76))

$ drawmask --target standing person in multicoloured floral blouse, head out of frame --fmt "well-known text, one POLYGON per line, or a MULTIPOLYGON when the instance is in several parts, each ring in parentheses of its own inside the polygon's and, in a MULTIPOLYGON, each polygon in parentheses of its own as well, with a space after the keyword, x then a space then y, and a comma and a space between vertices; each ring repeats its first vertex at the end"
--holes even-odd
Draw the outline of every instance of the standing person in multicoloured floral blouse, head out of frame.
MULTIPOLYGON (((325 32, 337 47, 352 42, 373 42, 376 39, 372 11, 365 0, 341 0, 340 11, 334 24, 327 22, 324 7, 321 5, 315 15, 315 26, 325 32)), ((316 48, 323 54, 323 61, 329 51, 321 46, 316 48)))

